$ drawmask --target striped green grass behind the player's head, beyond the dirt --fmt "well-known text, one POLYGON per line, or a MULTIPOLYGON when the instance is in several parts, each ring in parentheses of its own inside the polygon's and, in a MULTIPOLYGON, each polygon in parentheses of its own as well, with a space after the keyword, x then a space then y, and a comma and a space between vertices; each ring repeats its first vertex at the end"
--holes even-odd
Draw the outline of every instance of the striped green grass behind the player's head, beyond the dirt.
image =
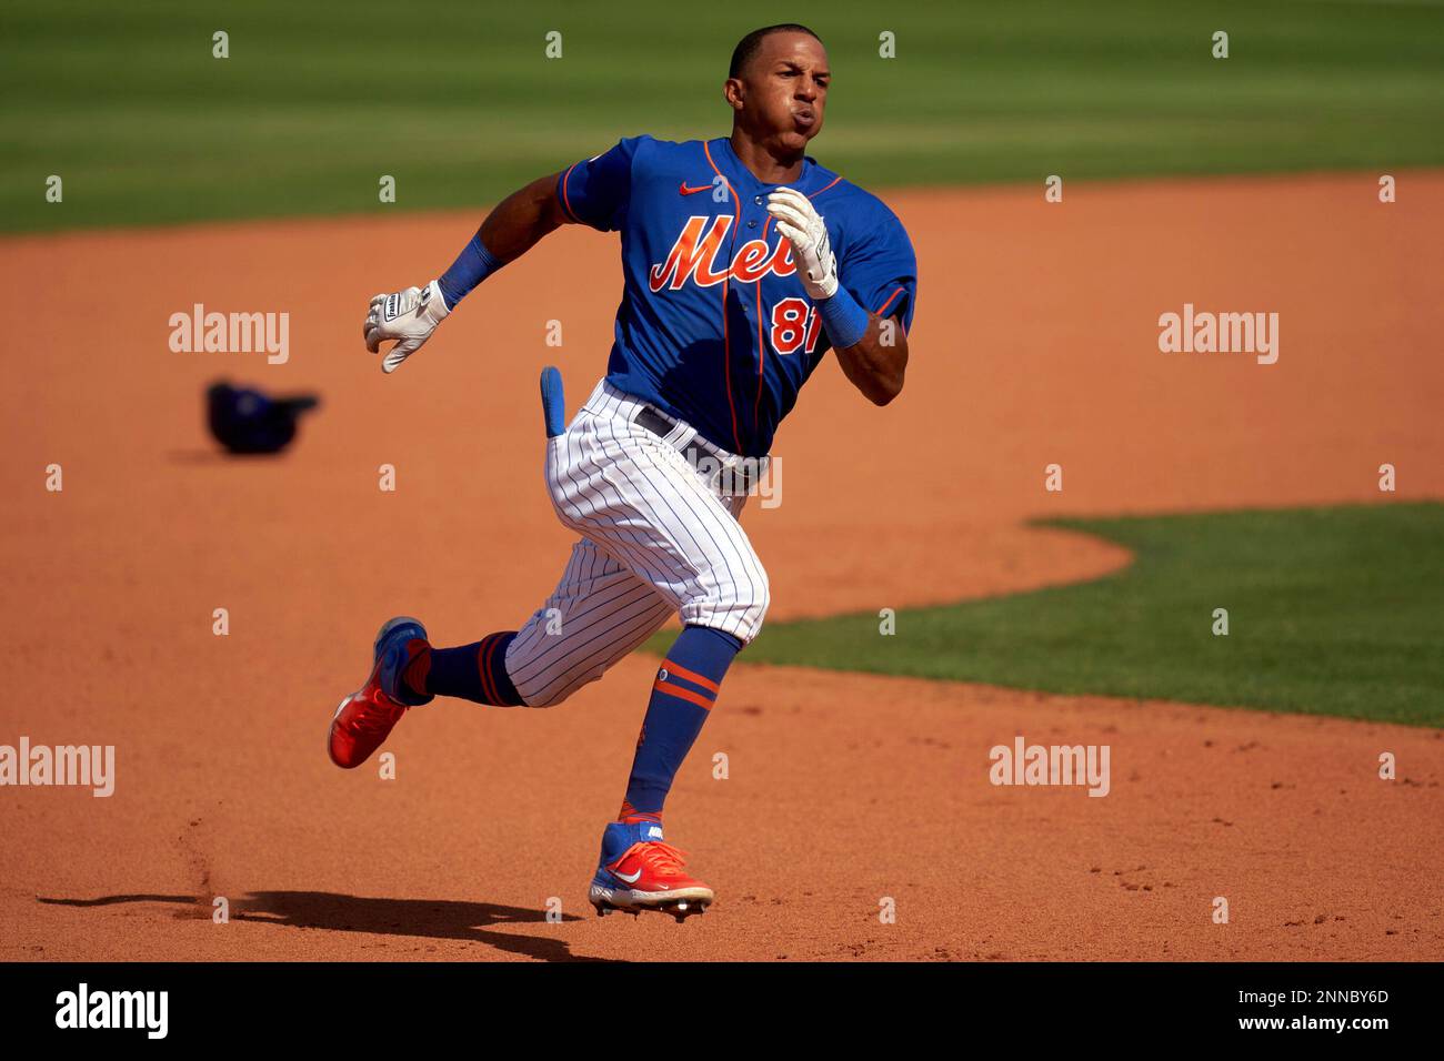
MULTIPOLYGON (((799 16, 17 0, 0 12, 0 228, 492 202, 621 136, 725 131, 732 45, 799 16), (560 59, 543 55, 547 30, 560 59), (396 206, 377 201, 384 173, 396 206)), ((835 71, 814 154, 871 186, 1444 162, 1437 6, 829 3, 803 17, 835 71), (895 59, 878 58, 882 30, 895 59)))

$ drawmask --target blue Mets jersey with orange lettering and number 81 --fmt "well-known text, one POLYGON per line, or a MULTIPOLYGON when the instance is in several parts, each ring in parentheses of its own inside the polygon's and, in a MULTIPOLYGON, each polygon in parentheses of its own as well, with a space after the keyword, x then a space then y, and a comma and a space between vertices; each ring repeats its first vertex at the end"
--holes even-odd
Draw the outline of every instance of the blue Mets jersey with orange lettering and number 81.
MULTIPOLYGON (((781 186, 752 176, 725 137, 640 136, 557 178, 573 221, 621 232, 608 383, 745 456, 767 453, 832 345, 767 212, 781 186)), ((839 283, 905 332, 917 256, 897 215, 810 157, 787 186, 823 217, 839 283)))

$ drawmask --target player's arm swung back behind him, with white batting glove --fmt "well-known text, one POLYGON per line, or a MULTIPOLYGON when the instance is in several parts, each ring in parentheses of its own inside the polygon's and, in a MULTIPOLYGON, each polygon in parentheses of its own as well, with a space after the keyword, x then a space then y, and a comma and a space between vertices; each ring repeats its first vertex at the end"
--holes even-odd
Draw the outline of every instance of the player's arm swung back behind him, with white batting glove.
POLYGON ((477 284, 520 258, 547 232, 572 221, 557 195, 559 176, 539 178, 497 204, 452 267, 436 280, 371 299, 365 318, 367 349, 377 354, 383 342, 396 339, 381 359, 383 372, 394 372, 419 351, 477 284))

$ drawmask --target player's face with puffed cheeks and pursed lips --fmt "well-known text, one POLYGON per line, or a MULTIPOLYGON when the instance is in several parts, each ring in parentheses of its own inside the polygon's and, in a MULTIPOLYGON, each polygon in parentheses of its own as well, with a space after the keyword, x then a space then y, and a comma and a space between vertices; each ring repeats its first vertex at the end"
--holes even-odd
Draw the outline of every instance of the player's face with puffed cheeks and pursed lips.
POLYGON ((752 131, 800 152, 822 131, 827 105, 827 51, 806 33, 773 33, 739 78, 742 110, 752 131))

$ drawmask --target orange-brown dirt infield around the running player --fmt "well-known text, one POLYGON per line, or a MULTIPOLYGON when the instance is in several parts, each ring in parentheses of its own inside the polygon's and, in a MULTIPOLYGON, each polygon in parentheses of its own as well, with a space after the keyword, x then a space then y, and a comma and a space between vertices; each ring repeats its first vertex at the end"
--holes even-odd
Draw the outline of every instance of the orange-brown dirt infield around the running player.
MULTIPOLYGON (((1444 175, 1401 175, 1392 205, 1375 180, 887 196, 921 261, 908 390, 875 410, 832 364, 809 385, 778 436, 783 504, 745 518, 771 615, 1126 563, 1022 525, 1050 512, 1380 501, 1383 462, 1396 497, 1444 497, 1444 175), (1161 354, 1184 303, 1278 312, 1278 362, 1161 354)), ((536 378, 560 365, 575 409, 602 371, 612 241, 549 240, 394 377, 361 345, 367 297, 432 276, 474 221, 7 241, 0 279, 40 299, 3 398, 0 743, 116 745, 117 781, 0 790, 0 960, 1444 956, 1438 730, 744 654, 669 801, 719 894, 684 925, 585 905, 645 658, 549 710, 413 712, 393 781, 335 769, 326 720, 381 619, 420 615, 443 644, 514 628, 566 556, 536 378), (172 352, 193 303, 290 313, 289 361, 172 352), (284 458, 227 460, 199 401, 219 375, 323 409, 284 458), (1109 743, 1109 797, 992 787, 988 749, 1017 733, 1109 743)))

